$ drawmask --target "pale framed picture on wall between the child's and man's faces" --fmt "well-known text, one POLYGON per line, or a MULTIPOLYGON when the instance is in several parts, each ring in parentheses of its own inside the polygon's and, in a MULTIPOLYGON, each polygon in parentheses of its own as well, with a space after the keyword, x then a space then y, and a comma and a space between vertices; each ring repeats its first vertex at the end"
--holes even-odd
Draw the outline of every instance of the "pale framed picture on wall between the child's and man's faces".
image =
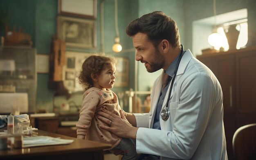
POLYGON ((114 87, 128 87, 129 85, 129 59, 115 57, 117 59, 114 87))

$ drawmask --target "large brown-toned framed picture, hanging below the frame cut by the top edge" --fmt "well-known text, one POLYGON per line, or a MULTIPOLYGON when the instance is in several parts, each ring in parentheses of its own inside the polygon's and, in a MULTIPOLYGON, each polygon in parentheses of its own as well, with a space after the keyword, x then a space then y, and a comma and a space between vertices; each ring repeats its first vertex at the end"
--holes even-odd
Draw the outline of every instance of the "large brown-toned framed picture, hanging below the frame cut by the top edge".
POLYGON ((81 18, 58 15, 57 35, 66 46, 79 48, 96 47, 96 22, 81 18))

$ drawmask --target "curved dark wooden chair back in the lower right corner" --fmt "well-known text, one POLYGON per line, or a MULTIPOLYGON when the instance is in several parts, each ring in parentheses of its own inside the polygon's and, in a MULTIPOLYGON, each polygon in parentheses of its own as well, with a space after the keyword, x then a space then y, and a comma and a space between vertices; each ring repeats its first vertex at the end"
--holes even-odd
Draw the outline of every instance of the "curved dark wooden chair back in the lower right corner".
POLYGON ((235 160, 256 160, 256 123, 238 128, 232 143, 235 160))

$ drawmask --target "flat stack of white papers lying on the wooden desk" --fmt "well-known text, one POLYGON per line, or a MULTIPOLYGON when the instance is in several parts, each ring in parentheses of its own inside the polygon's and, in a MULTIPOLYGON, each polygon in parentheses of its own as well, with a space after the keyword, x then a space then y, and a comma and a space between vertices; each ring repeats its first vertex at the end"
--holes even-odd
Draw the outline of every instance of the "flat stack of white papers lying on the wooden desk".
POLYGON ((45 145, 64 145, 70 144, 74 140, 66 140, 61 138, 53 138, 49 136, 23 137, 23 147, 35 147, 45 145))

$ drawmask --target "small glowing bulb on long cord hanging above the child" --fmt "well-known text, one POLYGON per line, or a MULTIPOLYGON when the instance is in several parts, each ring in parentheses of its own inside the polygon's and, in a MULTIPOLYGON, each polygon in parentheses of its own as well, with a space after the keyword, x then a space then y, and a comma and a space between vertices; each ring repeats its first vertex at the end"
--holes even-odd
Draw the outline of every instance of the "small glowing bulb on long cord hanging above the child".
POLYGON ((118 22, 117 22, 117 0, 115 0, 115 28, 116 28, 116 37, 115 37, 115 44, 112 46, 112 50, 116 53, 121 52, 122 46, 120 44, 120 37, 118 31, 118 22))

